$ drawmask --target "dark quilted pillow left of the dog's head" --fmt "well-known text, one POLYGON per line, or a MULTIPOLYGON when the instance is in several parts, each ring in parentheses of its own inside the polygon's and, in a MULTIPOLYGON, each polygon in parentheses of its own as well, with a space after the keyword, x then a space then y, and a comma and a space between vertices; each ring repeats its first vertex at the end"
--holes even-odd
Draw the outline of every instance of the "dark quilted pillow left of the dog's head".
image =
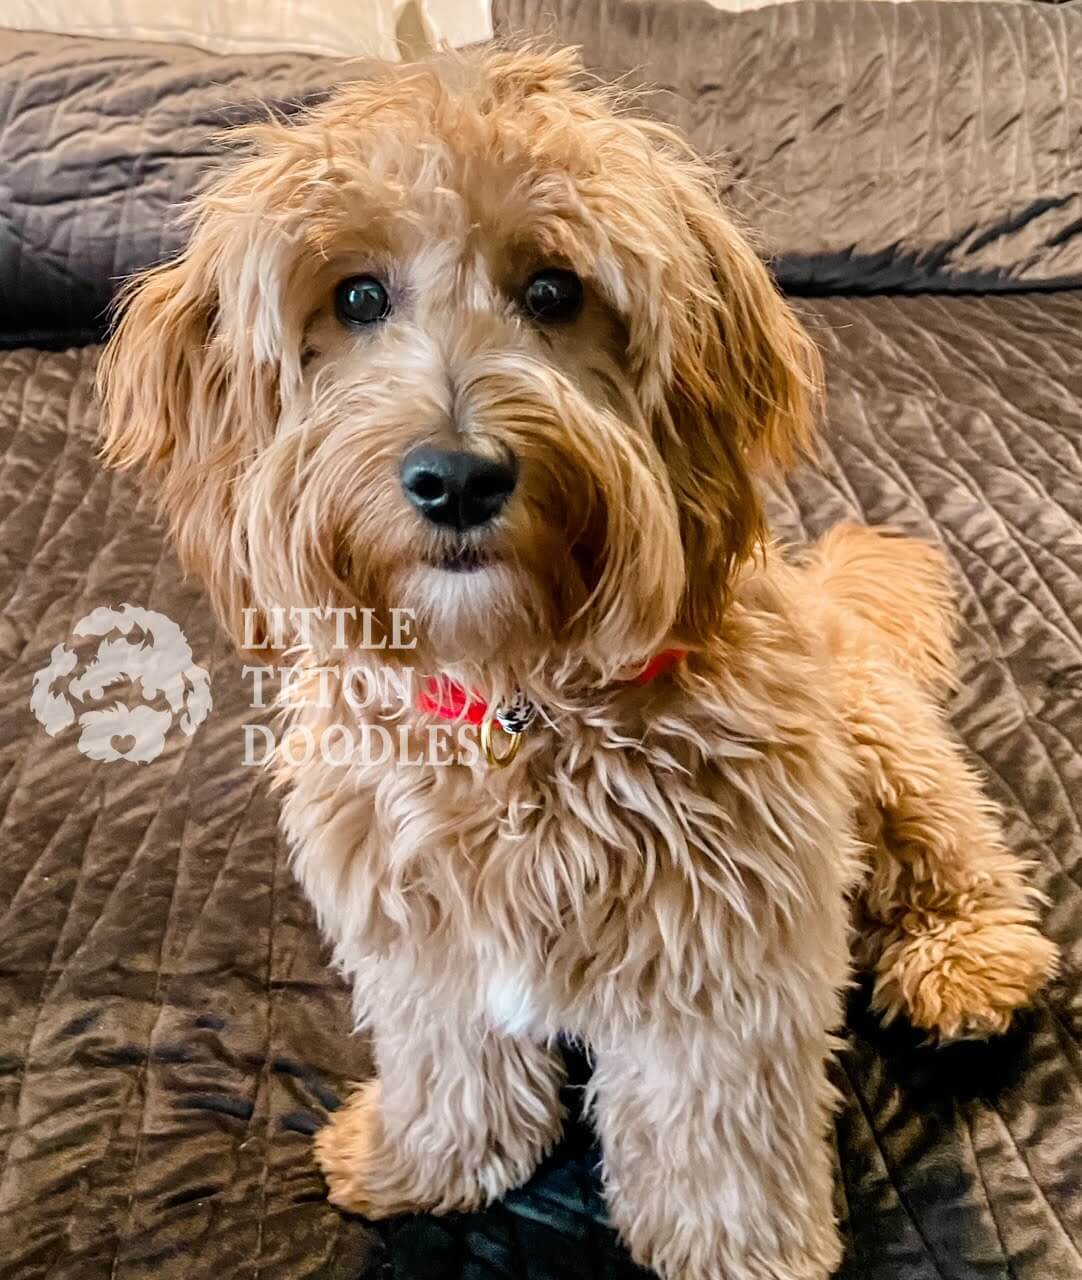
POLYGON ((183 244, 215 133, 297 110, 347 65, 0 31, 0 342, 99 337, 124 276, 183 244))

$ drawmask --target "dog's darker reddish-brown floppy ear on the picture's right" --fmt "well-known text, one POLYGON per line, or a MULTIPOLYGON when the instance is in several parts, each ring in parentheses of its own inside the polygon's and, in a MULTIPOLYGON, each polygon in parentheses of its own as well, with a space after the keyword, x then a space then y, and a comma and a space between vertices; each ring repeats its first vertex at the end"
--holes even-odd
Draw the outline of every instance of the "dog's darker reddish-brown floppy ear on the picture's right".
POLYGON ((656 143, 661 136, 672 220, 686 232, 667 264, 666 315, 657 321, 658 442, 684 540, 679 627, 694 643, 717 627, 732 568, 763 536, 755 471, 811 448, 821 362, 723 212, 709 170, 668 131, 650 132, 656 143))

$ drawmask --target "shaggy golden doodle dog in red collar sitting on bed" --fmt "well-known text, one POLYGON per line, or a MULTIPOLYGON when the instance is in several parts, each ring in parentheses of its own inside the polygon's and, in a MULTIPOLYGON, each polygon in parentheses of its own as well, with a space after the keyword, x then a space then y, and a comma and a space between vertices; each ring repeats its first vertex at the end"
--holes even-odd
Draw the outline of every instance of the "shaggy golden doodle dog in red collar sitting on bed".
POLYGON ((414 611, 410 652, 316 620, 291 660, 339 675, 295 724, 357 727, 343 618, 352 667, 461 695, 398 709, 407 759, 283 755, 379 1064, 316 1142, 332 1199, 522 1183, 562 1034, 636 1260, 822 1280, 850 932, 882 1014, 937 1037, 1001 1032, 1054 950, 939 703, 941 556, 768 544, 757 472, 809 443, 816 352, 709 170, 577 78, 440 55, 245 131, 129 292, 105 456, 238 640, 246 609, 414 611), (433 759, 464 701, 485 750, 433 759))

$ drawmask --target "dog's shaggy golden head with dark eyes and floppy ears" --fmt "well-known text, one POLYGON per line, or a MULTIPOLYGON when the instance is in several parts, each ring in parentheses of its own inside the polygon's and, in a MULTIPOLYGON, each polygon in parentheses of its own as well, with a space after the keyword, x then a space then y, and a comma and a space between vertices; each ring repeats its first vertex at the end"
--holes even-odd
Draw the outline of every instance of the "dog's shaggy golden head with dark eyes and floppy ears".
POLYGON ((717 626, 814 348, 709 170, 576 74, 447 55, 250 128, 134 282, 105 454, 234 634, 406 608, 438 660, 612 671, 717 626))

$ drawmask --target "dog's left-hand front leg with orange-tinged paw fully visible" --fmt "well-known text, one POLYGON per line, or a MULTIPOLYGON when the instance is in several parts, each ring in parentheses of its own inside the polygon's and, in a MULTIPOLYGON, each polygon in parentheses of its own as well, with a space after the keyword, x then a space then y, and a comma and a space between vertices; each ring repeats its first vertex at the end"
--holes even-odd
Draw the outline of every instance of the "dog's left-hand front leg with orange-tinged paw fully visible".
POLYGON ((474 1210, 525 1181, 560 1137, 557 1053, 408 1002, 374 1021, 379 1079, 316 1137, 339 1208, 366 1217, 474 1210))

